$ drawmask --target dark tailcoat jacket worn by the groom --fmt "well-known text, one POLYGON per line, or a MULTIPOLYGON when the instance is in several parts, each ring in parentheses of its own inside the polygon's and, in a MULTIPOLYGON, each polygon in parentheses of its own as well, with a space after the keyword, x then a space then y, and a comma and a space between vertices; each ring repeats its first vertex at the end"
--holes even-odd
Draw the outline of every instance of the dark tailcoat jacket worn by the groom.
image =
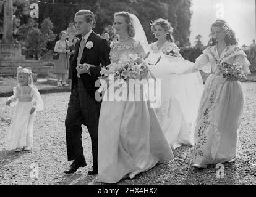
MULTIPOLYGON (((94 98, 95 91, 98 89, 98 87, 95 87, 95 82, 98 80, 98 77, 100 76, 100 64, 103 67, 110 64, 110 47, 106 39, 96 34, 94 31, 90 34, 89 38, 87 39, 87 42, 89 41, 93 42, 93 47, 91 49, 87 49, 87 47, 83 49, 83 54, 80 63, 89 63, 96 67, 90 68, 90 74, 80 74, 80 78, 82 79, 83 86, 87 90, 88 94, 90 94, 90 96, 94 98)), ((75 44, 75 53, 71 61, 73 76, 71 92, 74 89, 75 84, 77 84, 77 70, 75 68, 77 66, 77 56, 79 52, 80 42, 81 40, 75 44)))

